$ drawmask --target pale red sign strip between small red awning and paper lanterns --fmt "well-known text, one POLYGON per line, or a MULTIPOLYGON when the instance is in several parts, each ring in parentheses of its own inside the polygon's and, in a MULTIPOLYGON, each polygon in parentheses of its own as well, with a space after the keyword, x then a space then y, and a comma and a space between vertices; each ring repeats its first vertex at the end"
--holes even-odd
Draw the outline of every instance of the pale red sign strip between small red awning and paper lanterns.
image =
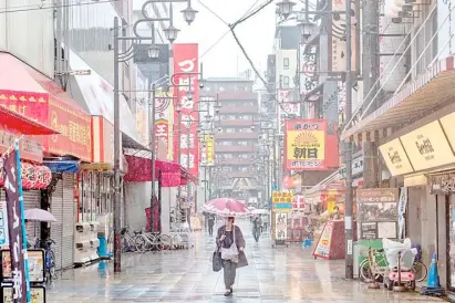
MULTIPOLYGON (((14 146, 14 140, 20 136, 9 133, 0 127, 0 154, 4 153, 8 148, 14 146)), ((43 161, 43 147, 40 143, 31 139, 29 136, 23 136, 19 140, 19 150, 21 158, 33 163, 43 161)))

